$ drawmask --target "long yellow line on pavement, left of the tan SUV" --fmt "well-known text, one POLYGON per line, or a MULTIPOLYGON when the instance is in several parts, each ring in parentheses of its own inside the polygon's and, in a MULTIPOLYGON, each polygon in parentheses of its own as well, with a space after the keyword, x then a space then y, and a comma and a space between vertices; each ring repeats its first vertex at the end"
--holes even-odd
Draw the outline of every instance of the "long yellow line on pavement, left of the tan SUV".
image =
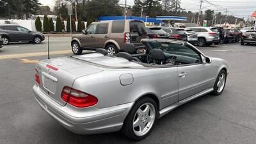
MULTIPOLYGON (((66 51, 51 51, 50 56, 54 54, 70 54, 72 51, 66 50, 66 51)), ((6 54, 6 55, 0 55, 0 60, 5 59, 12 59, 12 58, 26 58, 26 57, 33 57, 33 56, 47 56, 48 52, 32 52, 32 53, 25 53, 25 54, 6 54)))

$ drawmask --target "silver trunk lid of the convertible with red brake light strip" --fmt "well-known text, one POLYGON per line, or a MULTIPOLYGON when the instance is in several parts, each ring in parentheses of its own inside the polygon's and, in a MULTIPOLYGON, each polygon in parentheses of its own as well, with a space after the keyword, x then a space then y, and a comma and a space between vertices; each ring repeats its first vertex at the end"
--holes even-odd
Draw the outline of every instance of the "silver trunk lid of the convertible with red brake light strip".
POLYGON ((42 92, 61 106, 67 103, 61 99, 64 86, 72 87, 78 77, 102 71, 97 67, 70 58, 43 60, 36 65, 36 69, 39 73, 41 81, 39 87, 42 92))

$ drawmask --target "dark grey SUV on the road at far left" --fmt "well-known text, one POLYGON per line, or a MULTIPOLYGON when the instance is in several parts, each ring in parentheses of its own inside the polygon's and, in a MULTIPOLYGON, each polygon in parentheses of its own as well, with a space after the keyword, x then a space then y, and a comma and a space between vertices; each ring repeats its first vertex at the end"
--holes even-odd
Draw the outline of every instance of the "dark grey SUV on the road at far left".
POLYGON ((44 35, 40 32, 30 31, 19 25, 6 24, 0 25, 0 35, 3 38, 3 44, 9 42, 33 42, 40 44, 44 40, 44 35))

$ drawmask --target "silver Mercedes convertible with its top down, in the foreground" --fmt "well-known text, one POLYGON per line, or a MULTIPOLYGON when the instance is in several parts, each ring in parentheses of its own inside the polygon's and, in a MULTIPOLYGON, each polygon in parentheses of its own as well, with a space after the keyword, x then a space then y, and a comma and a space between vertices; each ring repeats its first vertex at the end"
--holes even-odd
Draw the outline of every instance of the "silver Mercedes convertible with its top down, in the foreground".
POLYGON ((188 42, 143 39, 108 56, 105 49, 36 63, 36 102, 77 134, 122 131, 141 140, 161 118, 207 93, 220 95, 228 66, 188 42))

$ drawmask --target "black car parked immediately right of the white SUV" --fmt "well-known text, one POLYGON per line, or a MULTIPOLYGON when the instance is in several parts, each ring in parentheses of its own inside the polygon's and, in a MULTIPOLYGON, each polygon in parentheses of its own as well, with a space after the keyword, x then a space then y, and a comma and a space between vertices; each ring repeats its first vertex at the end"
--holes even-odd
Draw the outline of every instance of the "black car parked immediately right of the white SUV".
POLYGON ((224 29, 222 27, 217 27, 218 31, 220 32, 220 42, 227 44, 228 42, 235 41, 235 31, 233 29, 224 29))

